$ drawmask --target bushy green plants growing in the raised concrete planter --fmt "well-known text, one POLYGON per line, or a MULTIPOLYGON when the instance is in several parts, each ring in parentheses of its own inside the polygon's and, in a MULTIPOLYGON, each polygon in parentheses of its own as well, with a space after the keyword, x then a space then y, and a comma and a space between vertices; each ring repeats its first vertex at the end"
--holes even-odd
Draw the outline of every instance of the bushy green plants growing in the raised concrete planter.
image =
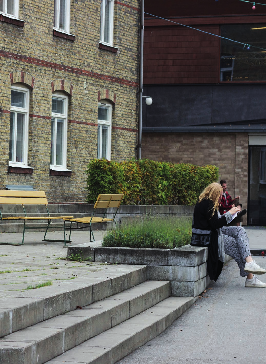
POLYGON ((102 246, 173 249, 190 244, 192 218, 149 217, 130 219, 103 237, 102 246))

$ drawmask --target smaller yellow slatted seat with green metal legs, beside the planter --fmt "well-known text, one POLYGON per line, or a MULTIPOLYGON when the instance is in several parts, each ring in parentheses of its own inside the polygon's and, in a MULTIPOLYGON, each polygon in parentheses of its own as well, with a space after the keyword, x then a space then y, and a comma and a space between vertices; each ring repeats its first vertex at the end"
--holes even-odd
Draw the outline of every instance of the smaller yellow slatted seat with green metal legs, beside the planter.
POLYGON ((116 221, 114 218, 116 217, 116 214, 117 214, 117 211, 121 204, 123 196, 124 196, 124 194, 122 194, 122 193, 120 193, 120 194, 101 194, 100 193, 98 195, 97 201, 94 204, 94 207, 93 207, 94 211, 91 216, 76 218, 76 219, 64 217, 63 218, 64 219, 64 245, 66 246, 66 243, 70 241, 71 229, 72 230, 85 229, 89 225, 90 241, 95 241, 92 227, 91 227, 92 223, 114 222, 116 224, 116 221), (110 211, 111 208, 113 208, 112 211, 110 211), (105 217, 108 213, 112 213, 113 217, 112 218, 105 217), (95 216, 95 214, 100 215, 100 216, 95 216), (66 226, 67 221, 70 221, 69 226, 66 226), (77 227, 72 227, 73 222, 77 223, 77 227), (82 224, 84 226, 80 226, 79 224, 82 224), (68 241, 66 241, 66 230, 69 230, 69 240, 68 241), (93 240, 91 240, 91 236, 93 237, 93 240))

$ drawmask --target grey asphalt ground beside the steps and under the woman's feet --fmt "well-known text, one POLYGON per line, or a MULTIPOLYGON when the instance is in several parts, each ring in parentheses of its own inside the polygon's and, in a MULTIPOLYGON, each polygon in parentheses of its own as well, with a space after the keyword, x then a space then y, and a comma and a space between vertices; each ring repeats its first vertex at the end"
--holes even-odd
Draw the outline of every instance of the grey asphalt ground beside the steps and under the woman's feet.
MULTIPOLYGON (((266 229, 245 227, 266 253, 266 229)), ((266 269, 266 257, 254 256, 266 269)), ((258 276, 266 282, 266 274, 258 276)), ((266 288, 246 288, 234 260, 168 329, 117 364, 266 363, 266 288)))

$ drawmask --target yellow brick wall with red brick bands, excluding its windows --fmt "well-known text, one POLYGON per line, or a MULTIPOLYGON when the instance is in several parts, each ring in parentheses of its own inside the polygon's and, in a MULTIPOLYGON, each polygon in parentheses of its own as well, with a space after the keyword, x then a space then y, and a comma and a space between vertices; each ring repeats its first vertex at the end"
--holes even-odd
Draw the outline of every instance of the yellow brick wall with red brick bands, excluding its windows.
POLYGON ((99 48, 100 1, 71 1, 70 33, 53 36, 54 1, 20 1, 24 26, 0 21, 0 188, 33 185, 48 201, 84 202, 86 166, 97 158, 98 102, 113 103, 111 159, 136 157, 139 0, 114 4, 113 49, 99 48), (116 51, 118 48, 118 51, 116 51), (28 165, 8 172, 11 85, 30 89, 28 165), (50 175, 52 92, 69 96, 67 169, 50 175))

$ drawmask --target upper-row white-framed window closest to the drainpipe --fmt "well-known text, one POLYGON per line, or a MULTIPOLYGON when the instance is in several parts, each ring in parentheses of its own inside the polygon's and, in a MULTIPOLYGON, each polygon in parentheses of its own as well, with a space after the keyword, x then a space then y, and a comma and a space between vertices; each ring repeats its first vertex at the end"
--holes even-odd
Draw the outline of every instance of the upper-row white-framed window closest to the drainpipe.
POLYGON ((114 0, 101 0, 100 42, 113 46, 114 0))

